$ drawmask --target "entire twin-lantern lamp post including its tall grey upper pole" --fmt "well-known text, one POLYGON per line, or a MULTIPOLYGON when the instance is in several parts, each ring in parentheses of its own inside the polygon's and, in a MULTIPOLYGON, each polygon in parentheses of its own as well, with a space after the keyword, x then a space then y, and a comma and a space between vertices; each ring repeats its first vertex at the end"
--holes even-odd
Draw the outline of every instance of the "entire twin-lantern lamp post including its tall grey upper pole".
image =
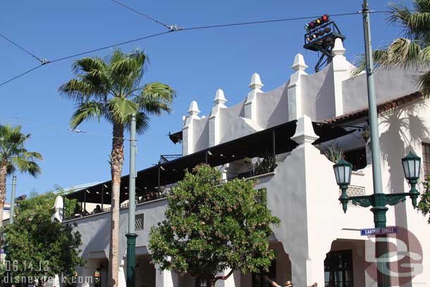
MULTIPOLYGON (((381 157, 379 147, 379 128, 378 128, 378 111, 376 109, 375 97, 375 84, 374 84, 374 63, 373 52, 371 49, 371 34, 370 34, 370 21, 369 21, 369 6, 367 0, 363 0, 363 26, 364 26, 364 43, 366 55, 366 75, 367 75, 367 97, 369 102, 369 126, 371 134, 371 160, 372 160, 372 173, 373 173, 373 195, 363 196, 348 196, 347 190, 350 185, 352 165, 345 161, 340 160, 338 164, 333 166, 336 182, 338 183, 341 195, 339 201, 342 203, 343 211, 348 209, 348 202, 360 205, 362 207, 372 207, 371 212, 374 214, 375 228, 386 227, 386 212, 387 205, 395 205, 399 202, 406 200, 409 196, 412 199, 412 205, 417 207, 417 197, 419 192, 415 188, 419 178, 419 165, 421 159, 416 154, 410 152, 404 159, 402 159, 403 170, 405 177, 411 185, 409 193, 391 193, 384 194, 382 189, 382 176, 381 176, 381 157)), ((378 267, 378 287, 391 286, 389 270, 386 266, 384 256, 387 255, 388 244, 386 235, 376 236, 376 261, 378 267)))

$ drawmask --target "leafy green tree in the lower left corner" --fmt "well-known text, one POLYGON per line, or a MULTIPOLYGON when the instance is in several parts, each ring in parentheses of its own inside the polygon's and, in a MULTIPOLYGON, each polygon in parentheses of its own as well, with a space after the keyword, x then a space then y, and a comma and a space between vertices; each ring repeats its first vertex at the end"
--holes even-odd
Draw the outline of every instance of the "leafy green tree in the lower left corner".
MULTIPOLYGON (((56 274, 73 274, 84 264, 79 256, 81 237, 70 224, 51 220, 55 198, 59 193, 32 193, 20 201, 13 224, 4 227, 5 245, 9 252, 11 281, 25 278, 44 279, 56 274)), ((73 212, 73 200, 66 199, 66 213, 73 212)), ((4 276, 2 276, 4 278, 4 276)))

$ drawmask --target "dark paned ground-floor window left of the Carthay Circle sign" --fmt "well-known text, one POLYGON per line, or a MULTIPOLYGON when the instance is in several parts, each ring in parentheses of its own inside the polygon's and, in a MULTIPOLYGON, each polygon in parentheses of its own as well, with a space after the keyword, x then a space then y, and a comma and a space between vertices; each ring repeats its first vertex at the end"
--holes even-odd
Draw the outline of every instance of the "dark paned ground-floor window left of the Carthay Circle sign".
POLYGON ((354 287, 351 250, 327 253, 324 260, 324 281, 326 287, 354 287))

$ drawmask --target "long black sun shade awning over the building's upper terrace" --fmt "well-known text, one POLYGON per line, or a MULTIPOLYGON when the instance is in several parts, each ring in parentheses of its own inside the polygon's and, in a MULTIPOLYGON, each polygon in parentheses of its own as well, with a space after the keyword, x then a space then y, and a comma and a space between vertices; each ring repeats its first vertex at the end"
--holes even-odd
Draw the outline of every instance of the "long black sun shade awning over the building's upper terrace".
MULTIPOLYGON (((296 126, 297 121, 290 121, 138 171, 136 195, 143 195, 145 190, 153 190, 158 185, 168 185, 182 180, 185 171, 192 170, 197 164, 207 162, 210 166, 221 166, 245 157, 264 157, 267 154, 273 154, 274 149, 276 154, 290 152, 297 147, 297 143, 291 140, 296 126)), ((315 133, 319 135, 319 139, 314 142, 314 145, 353 132, 353 130, 345 130, 340 126, 325 123, 313 123, 313 127, 315 133)), ((181 132, 175 133, 175 135, 176 140, 182 140, 181 132)), ((66 197, 78 200, 78 202, 102 203, 103 201, 104 204, 110 204, 110 191, 111 181, 106 181, 75 191, 66 197)), ((128 176, 123 176, 121 178, 121 202, 128 199, 127 193, 128 176)))

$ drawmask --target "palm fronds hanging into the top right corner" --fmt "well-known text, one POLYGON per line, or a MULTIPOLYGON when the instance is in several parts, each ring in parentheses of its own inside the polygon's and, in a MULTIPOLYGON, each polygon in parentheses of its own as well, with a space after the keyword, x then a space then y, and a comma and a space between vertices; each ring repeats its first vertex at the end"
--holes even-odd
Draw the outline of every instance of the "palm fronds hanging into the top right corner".
MULTIPOLYGON (((425 94, 430 92, 430 0, 412 0, 412 9, 405 4, 391 3, 388 23, 400 25, 403 37, 388 47, 374 50, 376 68, 405 68, 419 71, 417 80, 425 94)), ((354 74, 365 68, 362 59, 354 74)))

